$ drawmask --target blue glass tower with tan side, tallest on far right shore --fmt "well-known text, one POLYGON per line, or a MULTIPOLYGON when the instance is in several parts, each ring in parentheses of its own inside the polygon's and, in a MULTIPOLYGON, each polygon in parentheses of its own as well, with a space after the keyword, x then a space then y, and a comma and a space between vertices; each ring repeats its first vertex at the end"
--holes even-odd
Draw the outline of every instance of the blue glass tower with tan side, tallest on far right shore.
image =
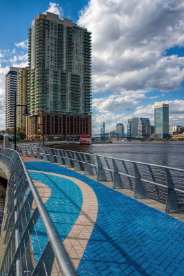
POLYGON ((154 106, 154 137, 165 139, 169 136, 169 105, 162 103, 154 106))

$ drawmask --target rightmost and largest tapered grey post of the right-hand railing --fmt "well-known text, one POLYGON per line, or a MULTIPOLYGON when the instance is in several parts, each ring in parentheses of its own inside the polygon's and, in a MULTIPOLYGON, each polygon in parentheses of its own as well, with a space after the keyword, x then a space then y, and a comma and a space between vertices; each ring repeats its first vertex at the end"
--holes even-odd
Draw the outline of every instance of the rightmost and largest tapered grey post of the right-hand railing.
POLYGON ((175 213, 180 210, 176 197, 176 191, 174 190, 174 184, 172 181, 170 170, 168 168, 165 168, 165 171, 167 176, 167 201, 165 206, 165 213, 175 213))

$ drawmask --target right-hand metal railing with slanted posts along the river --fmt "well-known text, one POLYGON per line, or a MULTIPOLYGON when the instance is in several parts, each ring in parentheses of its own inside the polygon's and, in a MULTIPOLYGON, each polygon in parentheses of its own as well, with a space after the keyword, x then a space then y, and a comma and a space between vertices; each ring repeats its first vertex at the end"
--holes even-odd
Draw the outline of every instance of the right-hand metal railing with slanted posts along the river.
POLYGON ((134 190, 134 198, 157 200, 165 204, 165 213, 184 210, 184 170, 92 155, 85 152, 41 147, 18 147, 21 155, 83 170, 96 175, 97 181, 112 181, 112 188, 134 190))

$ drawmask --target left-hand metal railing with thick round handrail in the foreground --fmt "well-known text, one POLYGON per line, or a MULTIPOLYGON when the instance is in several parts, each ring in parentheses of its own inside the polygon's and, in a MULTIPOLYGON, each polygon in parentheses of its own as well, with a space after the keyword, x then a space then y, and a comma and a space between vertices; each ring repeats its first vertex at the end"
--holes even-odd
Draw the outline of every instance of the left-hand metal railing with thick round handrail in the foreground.
POLYGON ((0 275, 50 275, 54 257, 61 275, 76 275, 19 153, 9 148, 0 152, 0 162, 8 168, 0 275))

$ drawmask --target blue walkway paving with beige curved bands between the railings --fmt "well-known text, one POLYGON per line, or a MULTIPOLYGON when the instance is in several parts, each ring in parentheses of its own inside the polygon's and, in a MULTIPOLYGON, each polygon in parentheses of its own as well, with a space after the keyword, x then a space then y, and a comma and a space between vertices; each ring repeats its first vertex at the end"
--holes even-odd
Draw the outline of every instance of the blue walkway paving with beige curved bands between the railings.
POLYGON ((183 222, 63 166, 23 159, 78 275, 184 275, 183 222))

